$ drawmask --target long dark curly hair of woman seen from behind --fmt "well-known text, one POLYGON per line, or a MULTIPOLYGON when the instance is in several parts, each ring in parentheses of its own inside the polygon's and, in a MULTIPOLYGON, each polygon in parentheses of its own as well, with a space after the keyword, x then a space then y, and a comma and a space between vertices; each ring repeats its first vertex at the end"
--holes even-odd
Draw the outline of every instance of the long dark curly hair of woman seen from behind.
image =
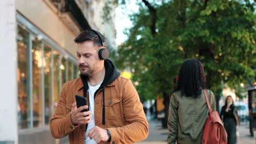
POLYGON ((178 84, 174 91, 181 91, 185 97, 197 98, 205 88, 205 82, 205 72, 201 62, 187 59, 179 70, 178 84))

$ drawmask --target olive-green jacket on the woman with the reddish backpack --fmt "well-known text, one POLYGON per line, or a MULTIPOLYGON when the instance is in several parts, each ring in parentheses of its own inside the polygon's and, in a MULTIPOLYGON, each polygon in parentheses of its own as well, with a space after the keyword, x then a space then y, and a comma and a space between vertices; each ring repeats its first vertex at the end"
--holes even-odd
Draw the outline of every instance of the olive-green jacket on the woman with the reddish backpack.
MULTIPOLYGON (((207 89, 213 111, 216 101, 212 91, 207 89)), ((171 95, 168 117, 167 143, 201 143, 203 126, 208 117, 208 107, 203 91, 199 98, 181 96, 181 92, 171 95)))

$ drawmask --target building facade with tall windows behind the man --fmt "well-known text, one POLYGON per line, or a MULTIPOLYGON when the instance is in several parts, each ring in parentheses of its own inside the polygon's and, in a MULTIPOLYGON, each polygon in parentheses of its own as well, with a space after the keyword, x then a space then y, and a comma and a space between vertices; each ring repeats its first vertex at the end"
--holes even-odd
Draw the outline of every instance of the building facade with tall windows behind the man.
MULTIPOLYGON (((104 7, 104 1, 4 1, 1 7, 6 8, 8 14, 14 14, 11 21, 13 34, 10 29, 1 29, 10 33, 8 36, 15 41, 0 43, 1 46, 13 43, 8 50, 1 48, 1 52, 13 54, 10 55, 10 61, 14 63, 11 66, 13 73, 5 75, 14 77, 15 85, 7 85, 5 88, 6 92, 12 91, 7 100, 13 101, 11 104, 15 109, 11 113, 16 115, 1 120, 0 128, 5 128, 2 122, 13 118, 16 119, 13 122, 16 126, 12 127, 14 136, 9 140, 0 136, 0 143, 67 143, 67 137, 55 140, 51 136, 49 121, 62 85, 80 75, 73 40, 81 31, 96 29, 106 34, 109 48, 114 49, 114 23, 102 22, 100 15, 103 9, 98 7, 104 7)), ((3 15, 0 13, 0 17, 3 15)), ((2 20, 8 26, 10 16, 2 20)), ((8 65, 6 67, 10 68, 8 65)), ((3 101, 5 98, 0 99, 3 101)), ((4 111, 7 110, 0 107, 0 115, 4 111)))

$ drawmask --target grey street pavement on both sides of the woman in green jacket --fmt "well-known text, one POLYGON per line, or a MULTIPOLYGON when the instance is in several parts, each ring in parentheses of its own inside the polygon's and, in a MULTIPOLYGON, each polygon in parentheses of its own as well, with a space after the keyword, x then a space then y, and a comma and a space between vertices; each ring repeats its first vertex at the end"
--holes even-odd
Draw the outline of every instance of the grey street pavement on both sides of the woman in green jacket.
MULTIPOLYGON (((167 129, 161 128, 161 121, 149 121, 149 135, 146 140, 136 144, 166 144, 167 129)), ((256 133, 254 137, 249 135, 249 124, 243 123, 239 128, 237 144, 256 144, 256 133)))

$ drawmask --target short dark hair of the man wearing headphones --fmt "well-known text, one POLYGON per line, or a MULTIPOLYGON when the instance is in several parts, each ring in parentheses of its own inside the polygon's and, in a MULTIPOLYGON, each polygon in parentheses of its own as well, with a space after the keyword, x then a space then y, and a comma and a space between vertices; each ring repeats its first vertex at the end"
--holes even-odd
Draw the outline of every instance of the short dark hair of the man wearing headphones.
MULTIPOLYGON (((100 33, 100 36, 104 39, 104 41, 106 41, 106 38, 100 33)), ((83 32, 81 32, 75 39, 74 42, 75 43, 84 43, 84 41, 93 41, 94 44, 96 44, 97 46, 101 46, 101 40, 98 37, 98 35, 90 30, 85 30, 83 32)))

